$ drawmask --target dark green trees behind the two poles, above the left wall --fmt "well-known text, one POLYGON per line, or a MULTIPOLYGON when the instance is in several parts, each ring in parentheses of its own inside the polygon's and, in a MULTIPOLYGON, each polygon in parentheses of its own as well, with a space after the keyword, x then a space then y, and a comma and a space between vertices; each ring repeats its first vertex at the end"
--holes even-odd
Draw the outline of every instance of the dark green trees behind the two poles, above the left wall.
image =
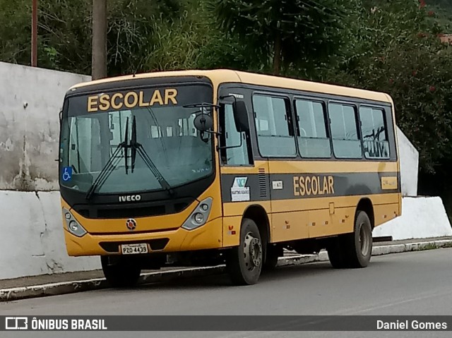
MULTIPOLYGON (((171 25, 178 0, 109 0, 109 76, 136 71, 155 42, 155 20, 171 25)), ((91 0, 40 0, 38 66, 90 74, 91 0)), ((30 64, 31 1, 0 0, 0 60, 30 64)), ((160 28, 160 27, 159 27, 160 28)))

